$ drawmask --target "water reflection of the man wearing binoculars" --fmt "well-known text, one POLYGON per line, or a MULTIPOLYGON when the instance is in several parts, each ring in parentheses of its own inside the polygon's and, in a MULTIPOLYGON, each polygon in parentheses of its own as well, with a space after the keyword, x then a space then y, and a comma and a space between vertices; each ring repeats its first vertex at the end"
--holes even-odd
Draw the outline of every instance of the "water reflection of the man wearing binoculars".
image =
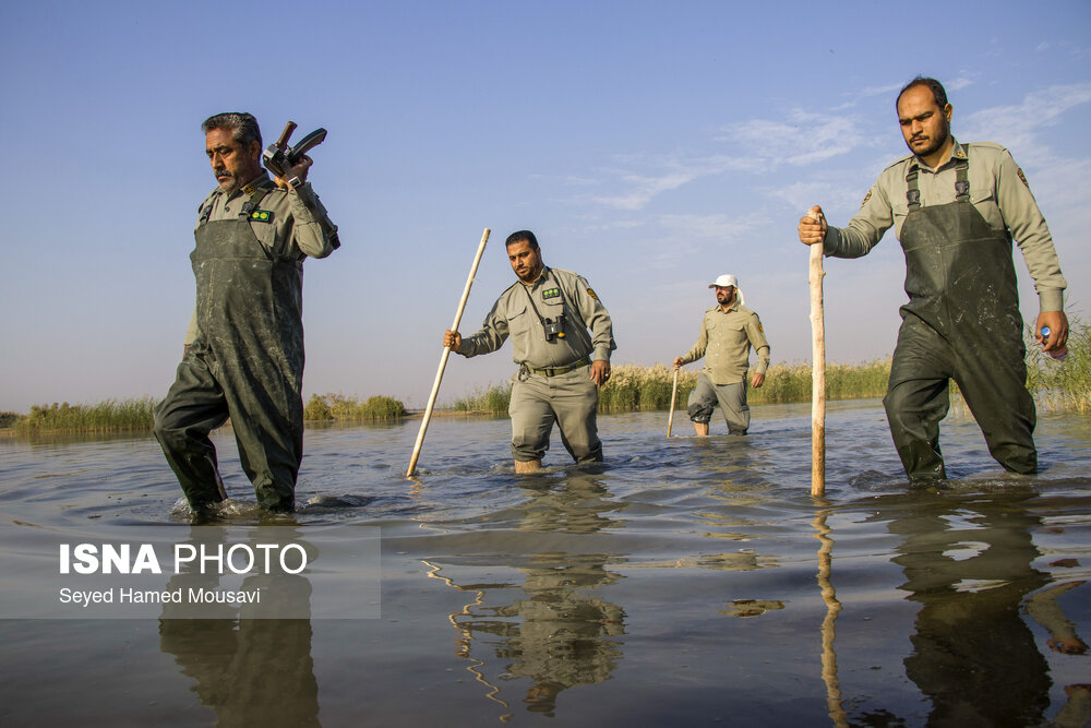
MULTIPOLYGON (((565 482, 552 487, 544 480, 526 480, 529 500, 515 509, 518 530, 586 535, 616 525, 603 515, 619 504, 601 478, 579 469, 567 476, 565 482)), ((604 553, 500 553, 442 559, 452 566, 424 563, 431 570, 429 576, 473 594, 472 601, 449 620, 458 632, 455 654, 470 663, 468 669, 489 688, 487 696, 509 707, 495 681, 526 678, 530 683, 523 697, 527 709, 553 716, 562 691, 609 680, 622 658, 616 637, 625 633, 625 612, 596 593, 621 578, 606 568, 611 558, 604 553), (443 573, 466 563, 514 568, 524 582, 456 584, 455 577, 443 573), (490 600, 501 604, 490 607, 490 600), (505 660, 501 675, 491 680, 485 676, 487 660, 471 655, 475 640, 494 645, 493 655, 505 660)))

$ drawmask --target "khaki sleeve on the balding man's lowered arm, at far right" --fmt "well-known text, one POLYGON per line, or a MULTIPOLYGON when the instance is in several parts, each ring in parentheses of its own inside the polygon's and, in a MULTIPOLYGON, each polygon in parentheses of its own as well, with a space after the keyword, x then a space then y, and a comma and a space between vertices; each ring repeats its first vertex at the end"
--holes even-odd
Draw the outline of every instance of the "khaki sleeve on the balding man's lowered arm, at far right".
POLYGON ((1007 150, 1000 154, 996 169, 996 201, 1004 224, 1011 231, 1027 270, 1034 279, 1042 311, 1064 310, 1064 293, 1068 287, 1060 274, 1060 261, 1045 217, 1030 191, 1022 170, 1007 150))

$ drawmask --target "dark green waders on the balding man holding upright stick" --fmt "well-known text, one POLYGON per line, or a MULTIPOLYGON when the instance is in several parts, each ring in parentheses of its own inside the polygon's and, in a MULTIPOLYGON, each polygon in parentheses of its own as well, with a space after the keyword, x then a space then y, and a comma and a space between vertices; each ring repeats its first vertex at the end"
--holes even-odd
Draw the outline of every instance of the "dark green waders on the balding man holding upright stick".
POLYGON ((970 203, 967 169, 967 159, 956 163, 955 202, 930 207, 920 204, 918 167, 906 176, 909 215, 901 247, 909 303, 901 307, 883 403, 898 455, 914 481, 947 477, 939 422, 950 402, 949 379, 993 457, 1015 473, 1038 470, 1011 239, 970 203))

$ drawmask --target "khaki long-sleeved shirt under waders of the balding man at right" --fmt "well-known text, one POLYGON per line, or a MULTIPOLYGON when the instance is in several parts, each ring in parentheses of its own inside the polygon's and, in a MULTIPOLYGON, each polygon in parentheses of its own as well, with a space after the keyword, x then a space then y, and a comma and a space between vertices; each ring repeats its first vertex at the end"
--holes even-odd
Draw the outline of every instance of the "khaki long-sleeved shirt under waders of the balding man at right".
POLYGON ((1022 170, 1006 148, 992 142, 975 142, 966 146, 955 142, 951 158, 938 169, 932 169, 912 154, 887 167, 867 192, 860 212, 849 220, 848 227, 829 227, 825 240, 826 254, 860 258, 874 248, 891 226, 901 239, 901 226, 909 214, 906 174, 912 166, 921 170, 918 181, 922 206, 955 202, 955 160, 967 158, 967 148, 970 202, 991 227, 1015 238, 1034 279, 1042 311, 1063 310, 1064 290, 1068 284, 1060 274, 1050 228, 1022 170))

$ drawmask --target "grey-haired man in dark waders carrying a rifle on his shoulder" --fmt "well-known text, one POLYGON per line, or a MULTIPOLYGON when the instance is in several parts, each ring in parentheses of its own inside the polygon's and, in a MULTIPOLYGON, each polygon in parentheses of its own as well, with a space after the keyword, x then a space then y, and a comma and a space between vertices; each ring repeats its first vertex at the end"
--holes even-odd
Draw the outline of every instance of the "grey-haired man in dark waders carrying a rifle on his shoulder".
POLYGON ((201 511, 226 498, 208 432, 230 417, 259 505, 290 511, 303 456, 302 262, 333 252, 337 232, 305 181, 309 157, 274 181, 253 116, 201 129, 219 187, 199 207, 196 308, 155 435, 201 511))

